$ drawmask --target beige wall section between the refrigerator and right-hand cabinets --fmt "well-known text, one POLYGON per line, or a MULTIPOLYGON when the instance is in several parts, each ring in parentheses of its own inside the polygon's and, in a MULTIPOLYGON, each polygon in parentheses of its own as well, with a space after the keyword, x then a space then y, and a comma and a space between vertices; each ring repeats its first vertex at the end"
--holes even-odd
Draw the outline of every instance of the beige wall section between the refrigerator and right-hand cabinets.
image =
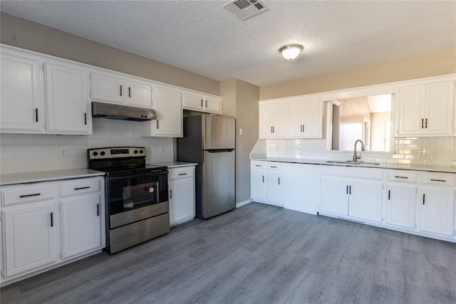
POLYGON ((259 87, 239 79, 220 83, 222 115, 236 118, 236 203, 250 199, 249 154, 258 140, 259 87), (242 135, 239 135, 242 128, 242 135))

